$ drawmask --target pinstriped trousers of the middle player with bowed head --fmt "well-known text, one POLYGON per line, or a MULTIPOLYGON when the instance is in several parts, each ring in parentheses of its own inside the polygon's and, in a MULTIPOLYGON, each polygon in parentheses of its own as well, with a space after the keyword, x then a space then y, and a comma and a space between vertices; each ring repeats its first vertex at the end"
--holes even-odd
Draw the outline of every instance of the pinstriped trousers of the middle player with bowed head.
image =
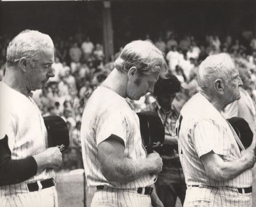
POLYGON ((150 195, 143 195, 137 189, 114 189, 104 187, 97 190, 91 207, 151 207, 150 195))

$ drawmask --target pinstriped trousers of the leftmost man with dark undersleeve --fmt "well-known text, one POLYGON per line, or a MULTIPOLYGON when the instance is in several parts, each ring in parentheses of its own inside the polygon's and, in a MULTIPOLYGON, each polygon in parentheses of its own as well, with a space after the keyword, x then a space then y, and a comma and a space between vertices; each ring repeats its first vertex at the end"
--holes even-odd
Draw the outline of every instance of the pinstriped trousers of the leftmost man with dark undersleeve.
POLYGON ((0 198, 0 207, 58 207, 56 188, 53 186, 0 198))

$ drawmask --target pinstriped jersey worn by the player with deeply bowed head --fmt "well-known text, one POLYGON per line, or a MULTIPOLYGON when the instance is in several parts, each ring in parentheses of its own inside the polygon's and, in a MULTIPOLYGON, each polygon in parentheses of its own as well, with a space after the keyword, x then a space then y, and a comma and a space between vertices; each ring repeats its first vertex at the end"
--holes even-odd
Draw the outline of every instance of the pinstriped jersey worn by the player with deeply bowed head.
POLYGON ((113 188, 132 189, 150 186, 156 175, 144 175, 129 183, 109 182, 103 176, 97 146, 111 134, 124 140, 124 156, 132 160, 146 158, 142 145, 139 119, 132 105, 106 87, 98 87, 88 100, 82 116, 81 144, 88 186, 106 185, 113 188))

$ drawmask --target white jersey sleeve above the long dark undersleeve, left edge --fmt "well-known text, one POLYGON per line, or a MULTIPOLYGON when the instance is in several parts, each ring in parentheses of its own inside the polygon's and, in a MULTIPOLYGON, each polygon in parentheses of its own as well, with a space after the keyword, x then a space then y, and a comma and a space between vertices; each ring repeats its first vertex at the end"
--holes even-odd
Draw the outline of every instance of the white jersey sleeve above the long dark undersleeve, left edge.
POLYGON ((11 113, 7 111, 1 110, 1 116, 0 116, 0 140, 2 140, 4 137, 9 137, 8 139, 8 146, 12 153, 14 143, 15 143, 15 133, 16 133, 17 127, 14 117, 11 113))

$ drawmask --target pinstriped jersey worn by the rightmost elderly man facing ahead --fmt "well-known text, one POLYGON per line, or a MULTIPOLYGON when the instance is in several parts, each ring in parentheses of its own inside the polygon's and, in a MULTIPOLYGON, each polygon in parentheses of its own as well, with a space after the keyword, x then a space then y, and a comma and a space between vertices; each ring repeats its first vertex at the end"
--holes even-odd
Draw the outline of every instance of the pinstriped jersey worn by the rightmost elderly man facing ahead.
POLYGON ((241 157, 232 127, 213 105, 200 93, 182 108, 177 120, 179 157, 187 185, 228 186, 252 185, 252 171, 248 169, 227 181, 213 181, 206 175, 200 156, 215 152, 223 160, 241 157))

